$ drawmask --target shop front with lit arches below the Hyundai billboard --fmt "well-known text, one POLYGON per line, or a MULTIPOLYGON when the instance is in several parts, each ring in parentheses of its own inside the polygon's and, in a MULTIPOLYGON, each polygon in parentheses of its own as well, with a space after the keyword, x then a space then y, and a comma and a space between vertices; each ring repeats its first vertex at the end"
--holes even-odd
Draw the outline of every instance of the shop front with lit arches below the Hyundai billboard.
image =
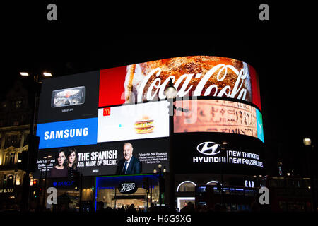
POLYGON ((222 183, 220 174, 177 174, 177 210, 186 210, 193 203, 195 211, 217 211, 221 206, 230 212, 251 211, 260 179, 256 175, 225 174, 222 183))

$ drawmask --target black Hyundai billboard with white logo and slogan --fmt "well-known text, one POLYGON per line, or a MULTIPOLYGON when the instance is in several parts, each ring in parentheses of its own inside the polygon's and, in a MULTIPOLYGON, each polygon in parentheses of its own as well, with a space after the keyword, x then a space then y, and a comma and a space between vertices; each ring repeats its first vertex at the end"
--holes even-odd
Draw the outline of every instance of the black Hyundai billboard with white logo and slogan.
POLYGON ((261 141, 224 133, 176 133, 176 173, 263 174, 261 141), (226 142, 226 143, 225 143, 226 142))

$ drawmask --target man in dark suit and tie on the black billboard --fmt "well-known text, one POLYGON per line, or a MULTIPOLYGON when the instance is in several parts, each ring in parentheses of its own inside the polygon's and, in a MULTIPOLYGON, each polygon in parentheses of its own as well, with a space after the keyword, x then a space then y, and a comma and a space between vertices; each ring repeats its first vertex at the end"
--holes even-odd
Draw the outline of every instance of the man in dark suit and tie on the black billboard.
POLYGON ((141 173, 141 162, 139 161, 139 159, 134 157, 134 155, 132 155, 133 150, 134 148, 131 143, 124 144, 124 159, 119 160, 117 164, 117 175, 141 173))

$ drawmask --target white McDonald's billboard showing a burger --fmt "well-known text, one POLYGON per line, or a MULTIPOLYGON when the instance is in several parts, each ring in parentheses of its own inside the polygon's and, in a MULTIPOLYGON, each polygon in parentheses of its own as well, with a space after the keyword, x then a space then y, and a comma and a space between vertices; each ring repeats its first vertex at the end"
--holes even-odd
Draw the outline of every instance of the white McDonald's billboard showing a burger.
POLYGON ((98 109, 98 143, 169 136, 169 102, 98 109))

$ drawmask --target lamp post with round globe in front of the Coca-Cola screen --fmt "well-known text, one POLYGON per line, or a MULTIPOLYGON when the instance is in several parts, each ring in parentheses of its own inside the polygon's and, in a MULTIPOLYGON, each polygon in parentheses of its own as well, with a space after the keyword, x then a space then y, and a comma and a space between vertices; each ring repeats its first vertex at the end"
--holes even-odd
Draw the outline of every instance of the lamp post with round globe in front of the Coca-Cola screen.
POLYGON ((175 109, 175 105, 173 102, 175 97, 177 97, 177 90, 172 84, 172 79, 169 81, 169 86, 165 88, 165 96, 167 97, 167 101, 170 103, 169 105, 169 206, 170 211, 175 212, 175 170, 174 170, 174 159, 173 159, 173 112, 175 109))

